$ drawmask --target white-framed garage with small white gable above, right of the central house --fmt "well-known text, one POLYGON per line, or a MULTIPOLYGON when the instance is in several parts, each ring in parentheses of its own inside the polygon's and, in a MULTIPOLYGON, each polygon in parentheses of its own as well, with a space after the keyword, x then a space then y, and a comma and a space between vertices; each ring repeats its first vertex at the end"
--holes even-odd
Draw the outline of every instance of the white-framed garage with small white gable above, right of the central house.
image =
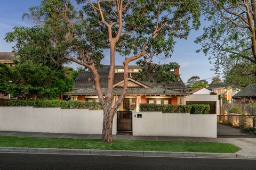
POLYGON ((189 91, 189 96, 186 96, 185 103, 189 104, 207 104, 210 105, 209 114, 220 114, 221 113, 221 97, 219 95, 211 95, 212 90, 199 87, 189 91))

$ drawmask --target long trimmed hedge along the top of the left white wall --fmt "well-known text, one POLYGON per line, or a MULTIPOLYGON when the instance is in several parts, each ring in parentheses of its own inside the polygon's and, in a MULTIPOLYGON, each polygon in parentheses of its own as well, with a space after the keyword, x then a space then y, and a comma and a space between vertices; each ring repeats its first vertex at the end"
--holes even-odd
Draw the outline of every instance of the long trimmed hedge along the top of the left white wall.
POLYGON ((8 106, 33 106, 33 107, 60 107, 68 108, 88 108, 92 110, 100 110, 102 106, 97 102, 75 101, 75 100, 10 100, 8 106))

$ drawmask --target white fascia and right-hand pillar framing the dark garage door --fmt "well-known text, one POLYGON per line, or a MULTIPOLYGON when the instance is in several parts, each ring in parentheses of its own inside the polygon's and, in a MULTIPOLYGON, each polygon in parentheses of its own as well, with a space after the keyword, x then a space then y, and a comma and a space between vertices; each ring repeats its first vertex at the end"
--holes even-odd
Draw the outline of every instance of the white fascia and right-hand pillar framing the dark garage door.
POLYGON ((220 102, 218 95, 189 95, 185 96, 185 103, 186 101, 215 101, 216 114, 220 114, 220 104, 222 105, 222 101, 220 102))

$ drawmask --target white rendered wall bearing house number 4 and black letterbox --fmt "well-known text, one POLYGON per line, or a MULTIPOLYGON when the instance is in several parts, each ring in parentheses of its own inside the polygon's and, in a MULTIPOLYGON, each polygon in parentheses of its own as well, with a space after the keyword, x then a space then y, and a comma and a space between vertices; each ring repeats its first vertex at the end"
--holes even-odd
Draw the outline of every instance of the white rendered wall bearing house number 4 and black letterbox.
POLYGON ((133 135, 217 138, 214 114, 135 112, 132 117, 133 135))

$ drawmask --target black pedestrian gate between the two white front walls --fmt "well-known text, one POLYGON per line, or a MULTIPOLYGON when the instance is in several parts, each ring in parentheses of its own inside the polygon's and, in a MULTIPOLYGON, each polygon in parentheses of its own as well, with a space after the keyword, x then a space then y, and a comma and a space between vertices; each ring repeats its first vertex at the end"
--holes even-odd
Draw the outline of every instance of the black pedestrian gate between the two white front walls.
POLYGON ((132 131, 131 111, 117 111, 117 131, 132 131))

